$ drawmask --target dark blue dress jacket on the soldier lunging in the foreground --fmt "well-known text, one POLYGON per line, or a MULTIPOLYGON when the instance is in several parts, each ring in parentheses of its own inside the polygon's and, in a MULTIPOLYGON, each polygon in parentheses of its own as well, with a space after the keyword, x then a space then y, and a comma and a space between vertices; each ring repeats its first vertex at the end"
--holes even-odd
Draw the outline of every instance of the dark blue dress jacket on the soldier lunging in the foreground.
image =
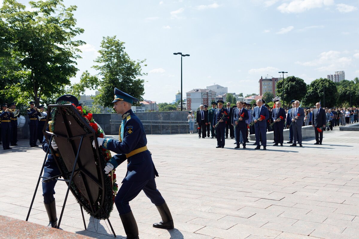
MULTIPOLYGON (((119 136, 120 141, 106 138, 102 143, 103 148, 117 153, 111 158, 112 162, 116 160, 117 165, 126 160, 124 154, 143 148, 147 144, 143 124, 132 110, 127 111, 122 118, 124 121, 123 138, 119 136)), ((153 164, 151 153, 149 150, 145 150, 127 158, 127 173, 122 182, 150 180, 155 176, 158 176, 158 173, 153 164)))

